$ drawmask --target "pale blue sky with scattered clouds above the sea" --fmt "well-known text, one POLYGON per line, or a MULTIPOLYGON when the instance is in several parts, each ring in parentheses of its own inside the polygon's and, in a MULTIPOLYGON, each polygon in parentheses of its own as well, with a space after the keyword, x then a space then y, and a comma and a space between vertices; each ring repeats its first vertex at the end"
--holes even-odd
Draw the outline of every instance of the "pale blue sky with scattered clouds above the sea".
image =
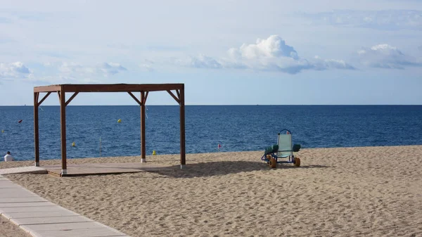
MULTIPOLYGON (((120 83, 184 83, 186 105, 421 105, 422 1, 0 0, 0 105, 33 105, 49 84, 120 83)), ((177 103, 153 92, 147 104, 177 103)))

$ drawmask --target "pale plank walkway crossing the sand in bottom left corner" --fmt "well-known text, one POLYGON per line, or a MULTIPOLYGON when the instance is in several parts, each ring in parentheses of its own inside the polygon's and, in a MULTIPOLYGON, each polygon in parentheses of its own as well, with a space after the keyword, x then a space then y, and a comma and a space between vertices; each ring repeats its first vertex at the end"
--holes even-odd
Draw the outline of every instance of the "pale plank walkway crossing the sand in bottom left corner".
POLYGON ((0 214, 34 237, 130 237, 50 203, 1 175, 0 214))

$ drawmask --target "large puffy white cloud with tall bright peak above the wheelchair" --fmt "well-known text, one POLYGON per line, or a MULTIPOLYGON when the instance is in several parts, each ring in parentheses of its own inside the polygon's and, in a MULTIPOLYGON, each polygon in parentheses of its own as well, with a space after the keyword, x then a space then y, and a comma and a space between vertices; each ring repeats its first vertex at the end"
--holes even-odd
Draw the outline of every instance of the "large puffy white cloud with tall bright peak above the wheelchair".
POLYGON ((268 39, 257 39, 256 44, 242 44, 239 48, 227 51, 227 58, 211 58, 200 55, 177 64, 193 68, 236 68, 262 71, 279 71, 296 74, 302 70, 328 70, 332 68, 354 70, 344 60, 322 59, 316 57, 306 60, 298 56, 293 46, 278 35, 268 39))

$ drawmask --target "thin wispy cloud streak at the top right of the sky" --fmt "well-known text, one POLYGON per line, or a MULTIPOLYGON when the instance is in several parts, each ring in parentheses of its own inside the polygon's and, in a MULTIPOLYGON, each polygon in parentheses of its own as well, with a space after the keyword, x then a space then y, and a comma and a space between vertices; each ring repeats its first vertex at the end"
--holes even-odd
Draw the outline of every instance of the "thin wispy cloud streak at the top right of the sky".
POLYGON ((323 13, 307 13, 306 18, 316 25, 365 27, 378 30, 422 30, 422 11, 352 11, 340 10, 323 13))

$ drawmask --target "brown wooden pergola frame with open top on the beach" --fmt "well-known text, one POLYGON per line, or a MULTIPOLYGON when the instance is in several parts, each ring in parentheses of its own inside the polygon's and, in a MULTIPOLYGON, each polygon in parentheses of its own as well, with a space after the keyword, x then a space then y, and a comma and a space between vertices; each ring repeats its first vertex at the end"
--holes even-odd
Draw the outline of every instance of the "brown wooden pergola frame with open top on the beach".
POLYGON ((61 158, 62 174, 67 173, 66 162, 66 105, 81 92, 127 92, 136 103, 141 105, 141 162, 146 162, 146 137, 145 137, 145 103, 150 91, 167 91, 180 106, 180 167, 186 165, 185 153, 185 108, 184 108, 184 84, 58 84, 44 87, 34 87, 34 141, 35 141, 35 166, 39 166, 39 105, 52 93, 58 94, 60 101, 60 130, 61 130, 61 158), (172 92, 176 91, 176 95, 172 92), (38 101, 39 94, 46 95, 38 101), (66 92, 73 93, 66 101, 66 92), (136 98, 132 92, 140 92, 140 98, 136 98))

